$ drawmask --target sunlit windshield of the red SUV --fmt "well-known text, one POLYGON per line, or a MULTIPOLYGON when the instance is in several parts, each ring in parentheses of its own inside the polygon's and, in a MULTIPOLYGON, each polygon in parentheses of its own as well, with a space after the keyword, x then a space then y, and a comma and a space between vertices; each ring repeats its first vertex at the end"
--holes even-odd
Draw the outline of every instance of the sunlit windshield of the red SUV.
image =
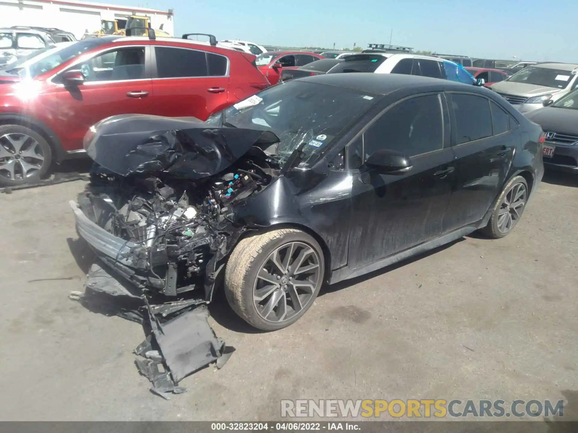
POLYGON ((35 78, 102 43, 103 40, 100 38, 85 39, 78 42, 61 42, 50 50, 37 54, 19 65, 16 65, 16 63, 10 65, 11 68, 6 70, 6 73, 20 77, 35 78))

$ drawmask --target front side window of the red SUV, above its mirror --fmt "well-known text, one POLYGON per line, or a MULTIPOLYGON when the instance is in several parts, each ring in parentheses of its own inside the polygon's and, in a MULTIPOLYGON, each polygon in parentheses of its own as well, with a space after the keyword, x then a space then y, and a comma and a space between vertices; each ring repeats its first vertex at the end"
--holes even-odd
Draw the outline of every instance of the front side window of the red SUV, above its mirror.
POLYGON ((144 78, 144 47, 108 51, 73 66, 86 81, 123 81, 144 78))

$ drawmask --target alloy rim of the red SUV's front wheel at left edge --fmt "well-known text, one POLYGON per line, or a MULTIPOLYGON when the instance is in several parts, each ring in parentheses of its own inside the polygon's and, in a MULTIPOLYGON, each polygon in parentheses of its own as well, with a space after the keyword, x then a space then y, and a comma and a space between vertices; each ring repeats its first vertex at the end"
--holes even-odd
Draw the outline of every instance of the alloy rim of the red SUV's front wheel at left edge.
POLYGON ((31 136, 9 133, 0 136, 0 176, 24 180, 42 169, 44 154, 40 143, 31 136))

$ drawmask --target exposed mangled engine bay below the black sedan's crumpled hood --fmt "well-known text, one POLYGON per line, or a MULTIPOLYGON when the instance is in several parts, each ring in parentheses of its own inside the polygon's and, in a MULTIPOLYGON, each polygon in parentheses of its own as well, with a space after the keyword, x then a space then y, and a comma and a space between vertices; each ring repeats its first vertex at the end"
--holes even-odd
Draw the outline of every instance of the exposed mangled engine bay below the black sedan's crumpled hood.
POLYGON ((223 174, 196 181, 124 177, 95 167, 78 203, 91 221, 137 245, 127 257, 117 257, 129 259, 129 268, 101 256, 105 263, 139 288, 177 296, 212 284, 206 267, 245 228, 235 221, 235 203, 259 193, 278 173, 275 160, 257 152, 223 174))

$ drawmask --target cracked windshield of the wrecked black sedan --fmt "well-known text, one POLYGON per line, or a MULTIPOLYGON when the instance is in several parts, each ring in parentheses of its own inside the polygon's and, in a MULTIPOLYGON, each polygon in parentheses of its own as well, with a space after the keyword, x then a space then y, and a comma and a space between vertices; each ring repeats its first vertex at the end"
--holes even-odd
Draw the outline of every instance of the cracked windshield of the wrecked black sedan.
POLYGON ((279 137, 279 159, 301 143, 307 166, 380 97, 344 87, 288 81, 212 115, 209 124, 271 130, 279 137))

